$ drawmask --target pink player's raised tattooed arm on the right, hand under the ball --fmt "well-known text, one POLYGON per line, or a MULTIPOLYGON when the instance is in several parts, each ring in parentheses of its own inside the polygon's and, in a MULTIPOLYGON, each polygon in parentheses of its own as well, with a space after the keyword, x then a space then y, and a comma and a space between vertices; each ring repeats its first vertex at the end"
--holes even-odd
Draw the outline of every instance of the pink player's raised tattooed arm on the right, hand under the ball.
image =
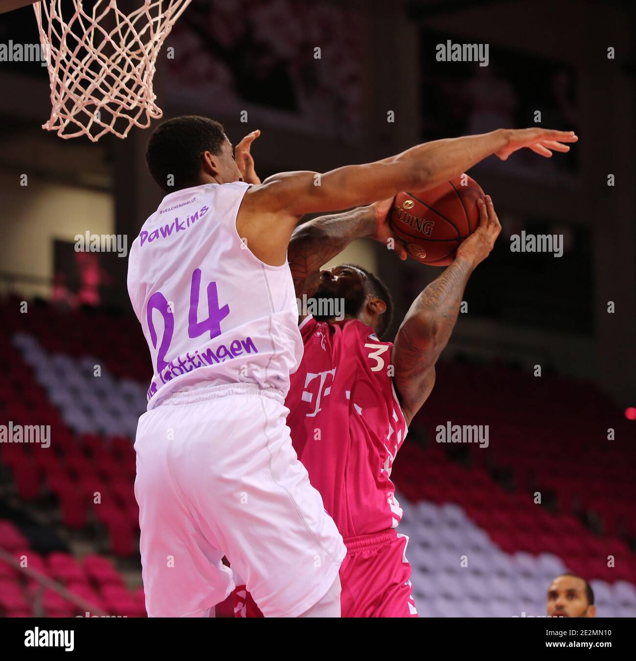
POLYGON ((393 379, 407 424, 433 389, 435 364, 455 327, 468 278, 501 231, 490 196, 478 204, 479 227, 459 246, 453 263, 413 301, 395 336, 393 379))

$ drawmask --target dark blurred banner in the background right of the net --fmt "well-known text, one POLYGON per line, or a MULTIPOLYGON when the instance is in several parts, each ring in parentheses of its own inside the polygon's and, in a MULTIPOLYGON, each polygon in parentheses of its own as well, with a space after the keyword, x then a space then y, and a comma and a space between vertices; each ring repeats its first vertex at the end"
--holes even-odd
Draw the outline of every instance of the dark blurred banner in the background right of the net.
POLYGON ((359 3, 195 0, 170 43, 166 86, 193 114, 356 143, 362 128, 359 3))

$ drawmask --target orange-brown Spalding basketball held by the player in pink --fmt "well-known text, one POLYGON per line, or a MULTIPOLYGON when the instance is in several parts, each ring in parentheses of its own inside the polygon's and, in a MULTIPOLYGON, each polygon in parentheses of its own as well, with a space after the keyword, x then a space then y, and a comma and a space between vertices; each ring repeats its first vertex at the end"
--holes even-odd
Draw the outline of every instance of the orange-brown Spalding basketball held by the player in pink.
POLYGON ((479 225, 479 198, 484 199, 484 192, 468 175, 424 192, 399 193, 391 208, 393 233, 418 262, 448 266, 459 244, 479 225))

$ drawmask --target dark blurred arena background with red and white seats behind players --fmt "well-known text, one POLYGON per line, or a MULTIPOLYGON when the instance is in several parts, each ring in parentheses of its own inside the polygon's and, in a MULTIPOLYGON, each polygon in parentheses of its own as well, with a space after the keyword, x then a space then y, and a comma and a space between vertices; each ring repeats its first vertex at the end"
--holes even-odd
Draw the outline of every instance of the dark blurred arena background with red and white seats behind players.
MULTIPOLYGON (((0 617, 146 617, 133 444, 152 368, 126 272, 162 198, 144 157, 162 120, 97 142, 43 130, 48 67, 15 55, 40 43, 16 4, 0 3, 0 617), (77 248, 94 235, 112 250, 77 248), (39 444, 9 442, 19 426, 39 444)), ((592 587, 596 628, 636 617, 634 7, 192 0, 159 50, 163 118, 215 118, 234 144, 260 129, 262 180, 497 128, 579 137, 469 171, 502 233, 391 475, 422 619, 545 617, 566 572, 592 587), (440 61, 448 42, 487 62, 440 61), (560 256, 514 251, 524 235, 559 237, 560 256), (450 421, 487 442, 440 442, 450 421)), ((368 239, 338 262, 387 284, 391 338, 441 272, 368 239)))

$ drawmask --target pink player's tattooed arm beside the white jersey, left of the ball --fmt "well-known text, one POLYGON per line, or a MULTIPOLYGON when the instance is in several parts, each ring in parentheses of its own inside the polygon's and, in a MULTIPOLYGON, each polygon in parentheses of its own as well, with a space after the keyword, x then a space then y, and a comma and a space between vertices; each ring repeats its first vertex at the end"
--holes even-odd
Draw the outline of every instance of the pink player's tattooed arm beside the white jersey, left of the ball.
MULTIPOLYGON (((356 239, 375 239, 388 245, 393 237, 387 220, 393 198, 370 206, 358 207, 342 214, 323 215, 298 225, 287 249, 294 278, 296 296, 308 296, 318 288, 321 266, 333 259, 356 239)), ((402 258, 407 253, 395 239, 395 252, 402 258)))

